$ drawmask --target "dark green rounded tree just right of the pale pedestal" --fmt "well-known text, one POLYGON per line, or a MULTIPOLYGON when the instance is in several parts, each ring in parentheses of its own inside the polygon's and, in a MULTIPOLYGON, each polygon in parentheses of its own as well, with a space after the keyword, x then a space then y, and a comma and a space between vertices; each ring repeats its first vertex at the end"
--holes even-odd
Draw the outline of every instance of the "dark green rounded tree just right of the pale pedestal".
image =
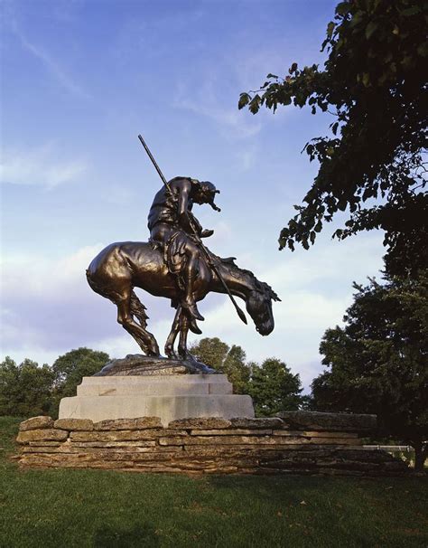
POLYGON ((252 367, 248 393, 253 398, 256 416, 271 417, 279 411, 294 411, 302 403, 299 374, 276 358, 269 358, 261 366, 252 367))

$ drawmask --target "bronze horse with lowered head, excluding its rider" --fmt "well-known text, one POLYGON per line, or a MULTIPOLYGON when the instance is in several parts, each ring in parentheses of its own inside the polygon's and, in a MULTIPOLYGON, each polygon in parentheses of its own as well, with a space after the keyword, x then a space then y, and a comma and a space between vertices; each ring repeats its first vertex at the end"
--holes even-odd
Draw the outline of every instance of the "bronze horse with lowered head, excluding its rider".
MULTIPOLYGON (((281 300, 265 282, 256 279, 249 270, 239 269, 233 258, 220 259, 210 253, 221 278, 230 293, 245 300, 247 312, 252 317, 256 331, 269 335, 274 329, 272 301, 281 300)), ((195 300, 200 301, 209 291, 225 293, 219 276, 200 261, 203 276, 195 281, 195 300)), ((187 335, 199 328, 181 307, 176 275, 172 274, 163 259, 163 252, 151 242, 125 241, 112 243, 100 251, 87 269, 89 286, 99 295, 110 299, 117 307, 117 322, 135 338, 144 354, 159 356, 159 345, 154 335, 146 330, 145 307, 135 295, 134 288, 142 288, 156 297, 170 298, 176 314, 164 347, 169 358, 192 359, 187 348, 187 335), (174 351, 180 333, 178 355, 174 351)))

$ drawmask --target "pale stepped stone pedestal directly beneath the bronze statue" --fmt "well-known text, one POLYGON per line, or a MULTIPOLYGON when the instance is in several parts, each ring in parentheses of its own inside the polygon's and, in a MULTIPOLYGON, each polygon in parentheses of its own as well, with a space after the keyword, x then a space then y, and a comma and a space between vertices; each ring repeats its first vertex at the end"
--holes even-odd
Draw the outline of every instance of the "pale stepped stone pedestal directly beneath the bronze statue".
POLYGON ((84 377, 77 396, 60 402, 60 419, 135 419, 160 417, 163 426, 172 420, 254 417, 250 396, 232 393, 222 374, 84 377))

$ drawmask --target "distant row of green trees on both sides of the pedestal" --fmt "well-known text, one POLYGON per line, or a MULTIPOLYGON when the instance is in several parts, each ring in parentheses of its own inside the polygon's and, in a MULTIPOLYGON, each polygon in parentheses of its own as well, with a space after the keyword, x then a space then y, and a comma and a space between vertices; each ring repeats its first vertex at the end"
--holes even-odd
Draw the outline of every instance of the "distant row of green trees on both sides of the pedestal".
MULTIPOLYGON (((301 395, 298 374, 279 359, 263 364, 246 363, 246 353, 237 345, 229 347, 219 338, 204 338, 191 352, 200 361, 228 375, 235 393, 253 398, 256 414, 270 416, 278 411, 296 410, 306 401, 301 395)), ((75 396, 84 376, 97 373, 110 357, 105 352, 79 348, 61 355, 50 366, 25 359, 16 364, 6 357, 0 363, 0 415, 58 417, 60 399, 75 396)))

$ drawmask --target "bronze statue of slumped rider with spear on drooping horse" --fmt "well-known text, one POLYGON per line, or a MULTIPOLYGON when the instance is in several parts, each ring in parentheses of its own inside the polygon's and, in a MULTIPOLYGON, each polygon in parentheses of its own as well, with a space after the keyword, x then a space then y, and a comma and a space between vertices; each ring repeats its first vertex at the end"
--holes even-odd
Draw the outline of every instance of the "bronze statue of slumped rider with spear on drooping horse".
POLYGON ((203 320, 197 302, 209 291, 227 293, 238 316, 247 323, 235 297, 243 298, 256 330, 269 335, 274 329, 272 300, 280 300, 266 283, 249 270, 239 269, 234 258, 220 259, 209 251, 201 238, 213 231, 203 230, 192 213, 193 203, 214 203, 219 193, 214 184, 191 177, 175 177, 167 182, 159 166, 139 136, 159 175, 163 188, 154 196, 149 212, 150 241, 112 243, 92 260, 87 269, 90 287, 109 298, 117 307, 117 321, 135 338, 147 355, 159 356, 154 335, 146 330, 145 307, 134 288, 143 288, 154 296, 170 298, 176 309, 172 329, 164 350, 177 359, 174 343, 180 333, 178 355, 192 360, 187 349, 189 330, 200 334, 196 320, 203 320))

